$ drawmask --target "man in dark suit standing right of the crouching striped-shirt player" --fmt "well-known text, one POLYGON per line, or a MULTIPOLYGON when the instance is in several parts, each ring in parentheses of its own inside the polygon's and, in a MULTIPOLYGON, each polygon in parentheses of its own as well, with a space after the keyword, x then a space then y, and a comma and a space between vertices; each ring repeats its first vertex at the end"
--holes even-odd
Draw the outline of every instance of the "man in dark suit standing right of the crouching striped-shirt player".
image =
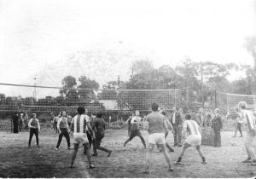
POLYGON ((215 117, 212 120, 212 130, 214 132, 214 147, 221 147, 220 130, 223 128, 222 119, 219 114, 219 109, 214 110, 215 117))

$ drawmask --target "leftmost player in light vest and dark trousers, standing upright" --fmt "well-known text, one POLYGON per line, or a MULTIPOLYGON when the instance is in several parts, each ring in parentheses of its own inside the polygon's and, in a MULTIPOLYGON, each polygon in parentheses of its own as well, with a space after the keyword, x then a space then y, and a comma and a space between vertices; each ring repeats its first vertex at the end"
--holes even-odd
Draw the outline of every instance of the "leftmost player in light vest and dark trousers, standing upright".
POLYGON ((32 136, 35 134, 37 140, 37 147, 39 147, 38 133, 40 132, 40 124, 35 113, 32 113, 31 119, 28 122, 29 131, 29 140, 28 147, 31 147, 32 136))

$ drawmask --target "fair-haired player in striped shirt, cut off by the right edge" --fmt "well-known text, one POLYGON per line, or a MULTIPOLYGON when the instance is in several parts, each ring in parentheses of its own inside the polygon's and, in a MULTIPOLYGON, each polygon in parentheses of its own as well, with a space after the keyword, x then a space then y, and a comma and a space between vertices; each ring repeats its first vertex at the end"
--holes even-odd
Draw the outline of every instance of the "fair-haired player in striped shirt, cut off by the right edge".
POLYGON ((256 121, 253 113, 247 110, 247 103, 240 101, 238 103, 238 109, 241 112, 241 121, 247 125, 247 138, 245 141, 245 147, 247 151, 247 159, 242 163, 256 163, 255 153, 253 151, 253 138, 256 136, 256 121))

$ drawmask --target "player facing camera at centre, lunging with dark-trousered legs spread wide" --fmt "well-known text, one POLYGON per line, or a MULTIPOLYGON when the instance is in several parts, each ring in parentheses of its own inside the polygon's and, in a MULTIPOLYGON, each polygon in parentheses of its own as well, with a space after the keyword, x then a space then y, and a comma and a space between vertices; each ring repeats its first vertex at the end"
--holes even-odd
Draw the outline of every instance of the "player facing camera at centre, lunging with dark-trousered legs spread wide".
POLYGON ((135 136, 138 136, 138 137, 140 137, 141 141, 143 142, 144 147, 146 148, 146 142, 145 142, 143 135, 140 131, 139 125, 142 123, 142 118, 139 115, 140 115, 140 112, 137 110, 135 112, 135 116, 131 118, 131 133, 130 133, 129 138, 125 141, 124 147, 135 136))

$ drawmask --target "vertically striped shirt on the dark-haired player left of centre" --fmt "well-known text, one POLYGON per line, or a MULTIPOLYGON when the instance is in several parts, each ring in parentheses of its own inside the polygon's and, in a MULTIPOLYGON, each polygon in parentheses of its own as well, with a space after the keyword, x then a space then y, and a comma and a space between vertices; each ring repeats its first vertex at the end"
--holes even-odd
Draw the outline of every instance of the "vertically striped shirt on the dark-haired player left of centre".
POLYGON ((87 115, 76 115, 72 119, 73 133, 86 133, 86 125, 90 122, 90 118, 87 115))

